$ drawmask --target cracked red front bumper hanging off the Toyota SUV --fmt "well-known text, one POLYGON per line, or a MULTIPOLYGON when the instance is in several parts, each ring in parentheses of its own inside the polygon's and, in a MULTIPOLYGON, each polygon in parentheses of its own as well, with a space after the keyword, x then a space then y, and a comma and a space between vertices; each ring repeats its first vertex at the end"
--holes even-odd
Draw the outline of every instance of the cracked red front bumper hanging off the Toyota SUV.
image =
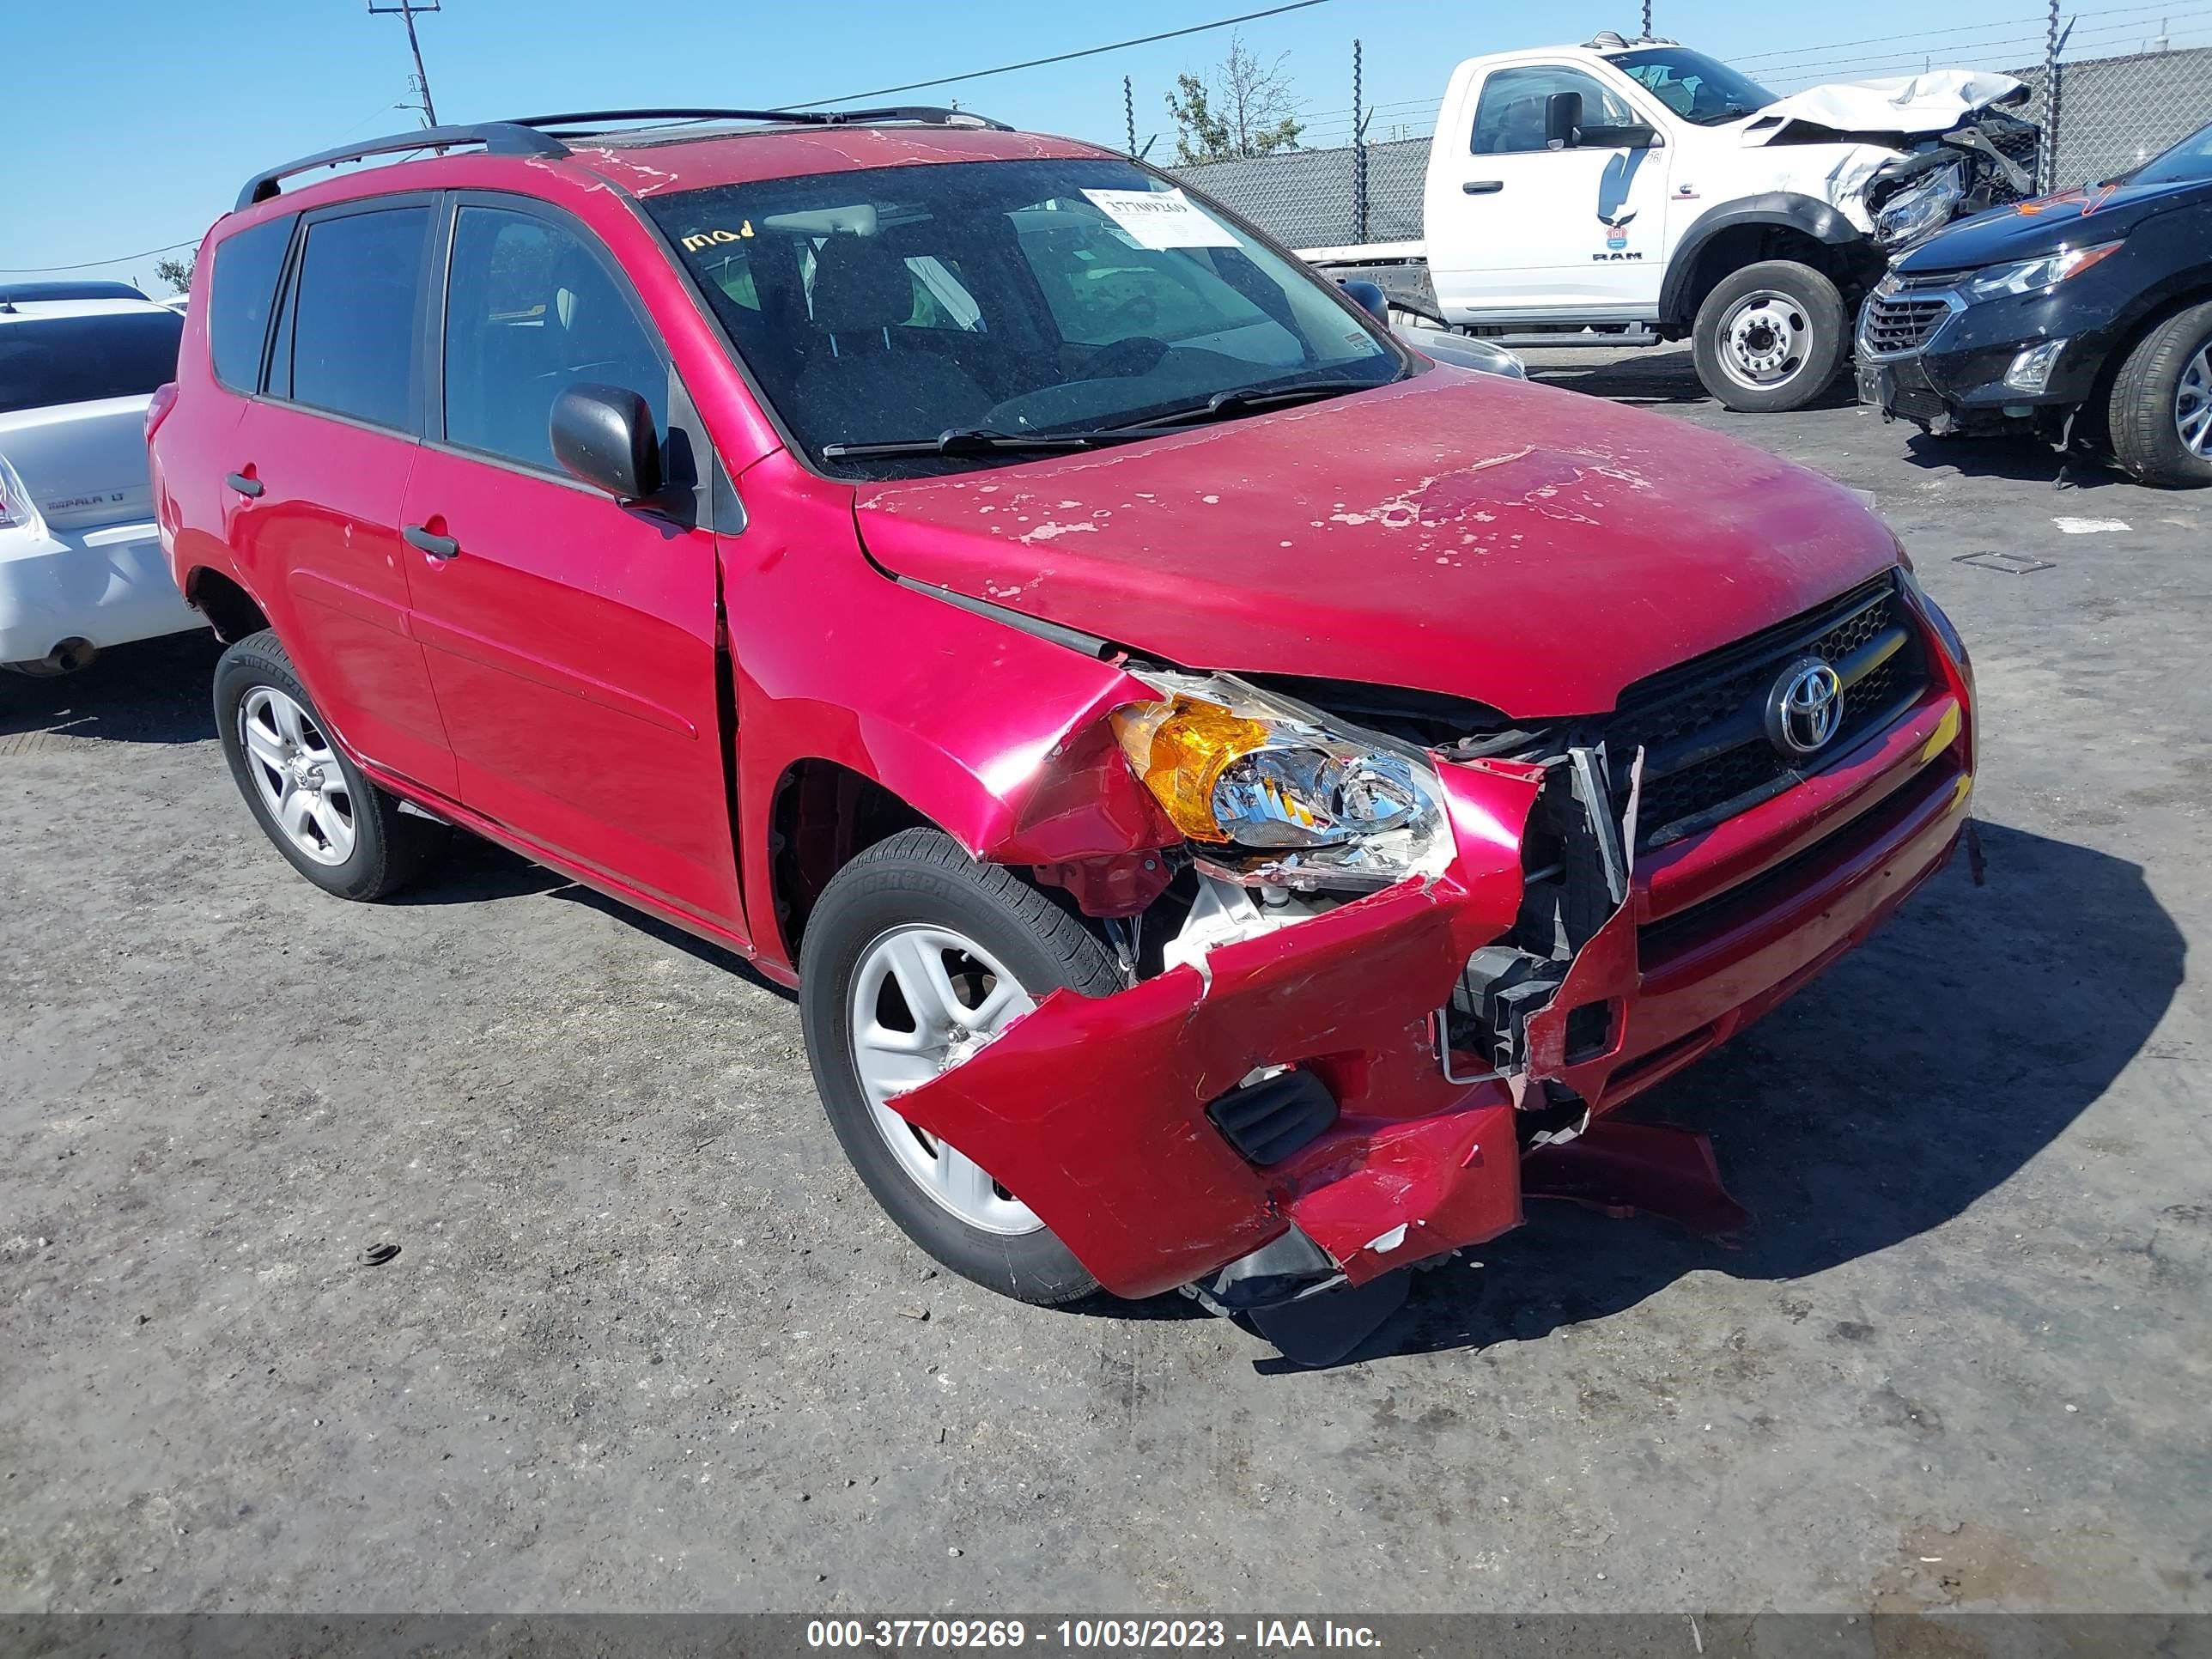
MULTIPOLYGON (((1480 1243, 1522 1219, 1531 1108, 1579 1097, 1606 1113, 1679 1071, 1944 863, 1971 794, 1966 688, 1938 675, 1818 776, 1650 854, 1528 1020, 1526 1071, 1484 1073, 1444 1048, 1442 1009, 1469 956, 1513 925, 1542 779, 1447 765, 1444 876, 1110 998, 1053 993, 898 1110, 991 1170, 1119 1296, 1201 1281, 1294 1228, 1352 1285, 1480 1243), (1604 1018, 1577 1020, 1593 1009, 1604 1018), (1312 1073, 1338 1115, 1263 1166, 1208 1108, 1274 1066, 1312 1073)), ((1584 1197, 1586 1172, 1562 1168, 1573 1150, 1531 1150, 1528 1190, 1584 1197)))

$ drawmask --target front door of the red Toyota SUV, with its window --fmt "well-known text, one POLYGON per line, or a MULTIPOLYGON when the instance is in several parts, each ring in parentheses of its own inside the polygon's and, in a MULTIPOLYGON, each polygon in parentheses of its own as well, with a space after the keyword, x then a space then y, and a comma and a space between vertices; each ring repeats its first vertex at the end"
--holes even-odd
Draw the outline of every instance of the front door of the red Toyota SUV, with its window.
POLYGON ((710 465, 661 343, 599 241, 522 197, 449 204, 440 385, 407 487, 414 633, 460 799, 646 896, 743 929, 701 491, 622 507, 553 460, 571 385, 637 392, 664 453, 710 465))

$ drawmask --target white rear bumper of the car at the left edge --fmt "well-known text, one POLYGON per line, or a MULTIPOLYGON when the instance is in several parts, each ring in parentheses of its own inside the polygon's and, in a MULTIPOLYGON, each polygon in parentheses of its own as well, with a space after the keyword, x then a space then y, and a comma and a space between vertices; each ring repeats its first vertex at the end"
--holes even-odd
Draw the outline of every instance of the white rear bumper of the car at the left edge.
POLYGON ((204 626, 150 522, 0 531, 0 661, 38 661, 64 639, 104 648, 204 626))

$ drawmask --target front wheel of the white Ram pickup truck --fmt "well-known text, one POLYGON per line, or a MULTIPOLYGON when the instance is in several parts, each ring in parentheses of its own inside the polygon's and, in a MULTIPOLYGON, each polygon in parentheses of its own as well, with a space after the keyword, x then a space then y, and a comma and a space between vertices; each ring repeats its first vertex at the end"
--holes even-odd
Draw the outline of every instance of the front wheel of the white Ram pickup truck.
POLYGON ((1803 409, 1843 367, 1843 294, 1794 259, 1721 279, 1697 307, 1697 378, 1743 414, 1803 409))

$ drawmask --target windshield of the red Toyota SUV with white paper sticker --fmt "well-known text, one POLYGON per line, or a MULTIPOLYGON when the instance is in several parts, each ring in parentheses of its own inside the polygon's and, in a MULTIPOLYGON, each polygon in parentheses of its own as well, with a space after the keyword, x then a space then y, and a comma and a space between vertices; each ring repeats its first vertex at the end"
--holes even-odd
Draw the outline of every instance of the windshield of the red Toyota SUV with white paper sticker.
MULTIPOLYGON (((1305 265, 1128 161, 818 173, 646 206, 816 460, 947 431, 1071 442, 1228 392, 1349 392, 1409 369, 1305 265)), ((1245 411, 1230 398, 1217 414, 1245 411)), ((863 471, 1024 453, 872 456, 863 471)))

